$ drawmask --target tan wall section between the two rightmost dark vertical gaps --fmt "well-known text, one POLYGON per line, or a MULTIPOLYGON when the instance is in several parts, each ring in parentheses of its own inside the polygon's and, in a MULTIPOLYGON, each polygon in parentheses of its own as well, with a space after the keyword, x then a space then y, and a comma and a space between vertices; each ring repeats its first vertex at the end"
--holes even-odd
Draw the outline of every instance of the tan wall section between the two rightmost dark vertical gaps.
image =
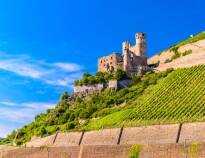
POLYGON ((179 124, 125 128, 120 144, 176 143, 179 124))

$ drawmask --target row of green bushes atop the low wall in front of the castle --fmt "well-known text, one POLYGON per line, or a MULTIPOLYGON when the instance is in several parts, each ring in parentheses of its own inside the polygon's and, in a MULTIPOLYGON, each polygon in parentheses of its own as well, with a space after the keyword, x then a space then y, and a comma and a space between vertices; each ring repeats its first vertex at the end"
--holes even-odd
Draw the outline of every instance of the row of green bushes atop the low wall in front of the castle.
POLYGON ((85 73, 81 80, 75 81, 75 86, 82 86, 82 85, 90 85, 96 83, 105 83, 109 80, 122 80, 126 78, 126 74, 123 70, 118 69, 114 73, 107 73, 107 72, 98 72, 96 75, 91 75, 89 73, 85 73))

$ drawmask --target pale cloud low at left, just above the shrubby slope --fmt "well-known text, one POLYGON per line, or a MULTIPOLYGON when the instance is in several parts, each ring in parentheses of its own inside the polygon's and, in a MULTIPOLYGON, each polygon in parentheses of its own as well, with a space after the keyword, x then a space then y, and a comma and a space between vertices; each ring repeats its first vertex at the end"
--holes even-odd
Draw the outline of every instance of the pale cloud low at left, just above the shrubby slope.
POLYGON ((0 102, 0 137, 5 137, 12 130, 20 127, 28 122, 31 122, 33 118, 41 113, 45 112, 49 108, 53 108, 56 105, 55 102, 0 102), (7 122, 7 124, 5 124, 7 122), (14 127, 13 127, 14 125, 14 127))

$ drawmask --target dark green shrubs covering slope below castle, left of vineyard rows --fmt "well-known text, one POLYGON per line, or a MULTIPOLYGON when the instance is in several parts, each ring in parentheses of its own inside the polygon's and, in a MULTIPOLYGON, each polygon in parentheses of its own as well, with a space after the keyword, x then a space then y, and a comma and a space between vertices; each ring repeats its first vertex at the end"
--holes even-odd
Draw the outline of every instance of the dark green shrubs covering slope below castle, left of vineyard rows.
POLYGON ((160 78, 166 77, 170 72, 171 70, 157 74, 150 72, 143 77, 134 76, 133 86, 130 88, 119 91, 106 89, 83 99, 74 97, 73 101, 68 101, 69 96, 64 92, 55 109, 37 115, 34 122, 14 131, 4 142, 12 142, 17 136, 16 144, 22 144, 34 135, 47 136, 57 131, 83 130, 91 120, 124 109, 142 95, 147 87, 156 84, 160 78))

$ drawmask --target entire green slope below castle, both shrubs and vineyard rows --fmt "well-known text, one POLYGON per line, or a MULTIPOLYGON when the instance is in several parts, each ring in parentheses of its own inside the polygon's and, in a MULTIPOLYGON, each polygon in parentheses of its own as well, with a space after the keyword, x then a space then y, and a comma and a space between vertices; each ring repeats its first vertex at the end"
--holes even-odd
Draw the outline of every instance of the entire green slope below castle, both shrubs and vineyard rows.
POLYGON ((106 89, 69 101, 65 92, 55 109, 11 133, 4 142, 22 144, 56 131, 143 126, 205 120, 205 65, 134 76, 132 86, 106 89), (83 120, 83 121, 82 121, 83 120), (83 122, 83 123, 82 123, 83 122))

